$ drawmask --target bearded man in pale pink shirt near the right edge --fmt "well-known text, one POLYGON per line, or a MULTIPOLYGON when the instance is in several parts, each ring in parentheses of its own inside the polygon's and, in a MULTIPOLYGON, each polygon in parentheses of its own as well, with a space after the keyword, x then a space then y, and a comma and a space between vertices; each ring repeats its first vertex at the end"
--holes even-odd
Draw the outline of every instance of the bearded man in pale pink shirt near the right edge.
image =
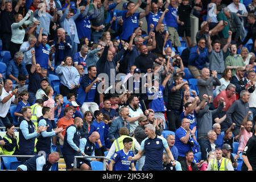
POLYGON ((253 136, 253 133, 251 132, 251 129, 253 128, 253 122, 246 121, 245 125, 241 125, 240 128, 241 136, 239 138, 237 154, 243 152, 243 149, 245 149, 246 143, 248 142, 249 138, 253 136))

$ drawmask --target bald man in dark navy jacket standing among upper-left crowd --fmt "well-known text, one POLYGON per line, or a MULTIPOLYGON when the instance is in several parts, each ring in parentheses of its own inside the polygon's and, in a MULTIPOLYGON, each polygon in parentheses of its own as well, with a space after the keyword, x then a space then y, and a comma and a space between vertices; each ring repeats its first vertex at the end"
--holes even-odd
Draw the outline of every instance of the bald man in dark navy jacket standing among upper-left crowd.
POLYGON ((72 56, 71 38, 65 34, 64 28, 58 28, 53 46, 55 47, 55 65, 59 65, 66 56, 72 56))

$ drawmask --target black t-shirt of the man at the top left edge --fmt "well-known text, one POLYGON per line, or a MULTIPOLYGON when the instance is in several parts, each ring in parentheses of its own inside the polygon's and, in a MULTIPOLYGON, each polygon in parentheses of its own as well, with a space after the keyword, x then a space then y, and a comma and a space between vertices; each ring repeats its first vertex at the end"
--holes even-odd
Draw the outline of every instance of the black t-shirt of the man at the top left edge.
POLYGON ((11 24, 14 23, 15 11, 7 12, 6 10, 0 13, 0 32, 3 34, 11 34, 11 24))

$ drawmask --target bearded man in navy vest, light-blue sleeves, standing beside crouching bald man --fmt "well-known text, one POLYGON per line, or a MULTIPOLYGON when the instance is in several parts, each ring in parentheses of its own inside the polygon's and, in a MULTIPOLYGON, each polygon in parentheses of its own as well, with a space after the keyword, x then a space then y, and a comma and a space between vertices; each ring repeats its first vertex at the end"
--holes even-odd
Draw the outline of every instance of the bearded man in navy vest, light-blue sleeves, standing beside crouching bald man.
POLYGON ((63 144, 63 157, 68 171, 72 171, 74 168, 74 157, 84 152, 80 150, 80 138, 81 134, 79 130, 83 125, 81 118, 77 117, 74 119, 74 124, 67 127, 66 134, 64 137, 63 144))

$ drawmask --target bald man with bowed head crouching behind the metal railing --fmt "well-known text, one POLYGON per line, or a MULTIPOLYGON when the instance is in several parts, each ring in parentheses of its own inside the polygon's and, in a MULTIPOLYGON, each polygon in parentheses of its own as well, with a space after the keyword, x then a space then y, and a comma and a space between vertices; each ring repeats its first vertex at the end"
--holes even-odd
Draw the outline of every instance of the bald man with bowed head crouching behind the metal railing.
MULTIPOLYGON (((80 139, 80 150, 84 156, 95 156, 95 143, 100 139, 100 134, 97 131, 94 131, 90 137, 80 139)), ((86 158, 77 160, 77 168, 80 168, 82 171, 90 170, 90 161, 96 160, 95 158, 86 158)))

